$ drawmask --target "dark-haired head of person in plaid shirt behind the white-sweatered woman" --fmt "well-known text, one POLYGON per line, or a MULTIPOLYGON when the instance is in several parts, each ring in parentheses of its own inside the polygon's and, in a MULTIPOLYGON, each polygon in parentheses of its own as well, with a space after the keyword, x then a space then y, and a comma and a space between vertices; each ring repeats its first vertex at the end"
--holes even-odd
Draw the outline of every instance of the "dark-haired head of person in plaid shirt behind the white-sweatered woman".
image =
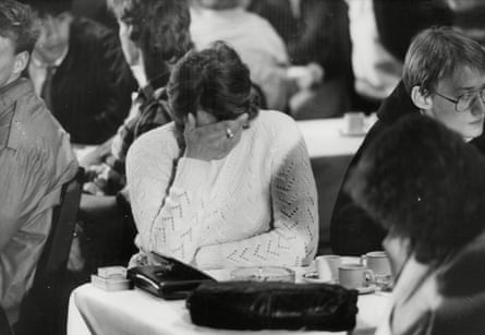
POLYGON ((145 57, 175 62, 192 47, 186 0, 108 0, 145 57))

